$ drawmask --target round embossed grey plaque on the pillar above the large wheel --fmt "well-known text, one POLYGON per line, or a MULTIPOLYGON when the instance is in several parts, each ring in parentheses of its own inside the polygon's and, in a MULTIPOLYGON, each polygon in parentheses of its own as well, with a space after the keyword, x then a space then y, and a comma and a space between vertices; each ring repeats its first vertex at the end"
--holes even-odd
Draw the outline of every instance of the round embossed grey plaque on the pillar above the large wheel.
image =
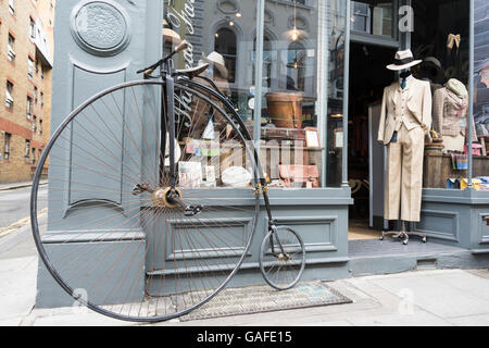
POLYGON ((73 10, 72 34, 86 51, 97 55, 114 55, 130 41, 129 17, 112 0, 85 1, 73 10))

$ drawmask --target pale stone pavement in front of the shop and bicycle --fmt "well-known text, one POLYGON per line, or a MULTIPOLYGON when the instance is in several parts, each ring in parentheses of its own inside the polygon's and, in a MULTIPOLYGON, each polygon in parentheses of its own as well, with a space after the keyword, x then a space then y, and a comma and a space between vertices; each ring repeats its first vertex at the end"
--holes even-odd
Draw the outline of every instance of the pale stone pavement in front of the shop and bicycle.
MULTIPOLYGON (((28 188, 14 189, 23 192, 28 188)), ((0 188, 1 190, 1 188, 0 188)), ((5 192, 0 191, 0 204, 5 192)), ((22 198, 18 196, 17 198, 22 198)), ((0 207, 1 208, 1 207, 0 207)), ((1 212, 2 209, 0 209, 1 212)), ((0 213, 1 216, 1 213, 0 213)), ((40 211, 39 224, 47 214, 40 211)), ((0 224, 0 227, 5 227, 0 224)), ((8 227, 8 226, 7 226, 8 227)), ((0 234, 0 326, 120 326, 77 306, 37 309, 37 250, 28 220, 0 234)), ((180 322, 156 326, 466 326, 489 325, 489 270, 425 270, 326 282, 348 304, 180 322)))

